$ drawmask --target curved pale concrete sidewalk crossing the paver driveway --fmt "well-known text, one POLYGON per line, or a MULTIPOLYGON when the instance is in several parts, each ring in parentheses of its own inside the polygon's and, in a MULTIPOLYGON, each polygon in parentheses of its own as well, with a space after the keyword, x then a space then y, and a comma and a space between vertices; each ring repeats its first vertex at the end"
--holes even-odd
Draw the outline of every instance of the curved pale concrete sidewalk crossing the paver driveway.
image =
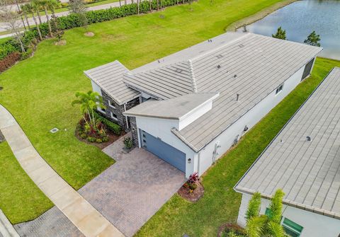
POLYGON ((0 105, 0 129, 14 156, 33 182, 84 236, 123 236, 38 154, 18 122, 0 105))

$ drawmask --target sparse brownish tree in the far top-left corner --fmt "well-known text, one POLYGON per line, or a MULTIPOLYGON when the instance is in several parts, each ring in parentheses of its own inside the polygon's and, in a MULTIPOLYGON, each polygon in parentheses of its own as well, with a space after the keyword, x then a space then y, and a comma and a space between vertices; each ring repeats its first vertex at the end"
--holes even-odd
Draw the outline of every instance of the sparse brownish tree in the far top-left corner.
POLYGON ((23 32, 21 28, 21 16, 17 11, 12 11, 10 2, 8 0, 0 1, 0 19, 6 23, 6 28, 13 35, 13 38, 21 47, 21 52, 26 52, 25 45, 23 45, 23 32))

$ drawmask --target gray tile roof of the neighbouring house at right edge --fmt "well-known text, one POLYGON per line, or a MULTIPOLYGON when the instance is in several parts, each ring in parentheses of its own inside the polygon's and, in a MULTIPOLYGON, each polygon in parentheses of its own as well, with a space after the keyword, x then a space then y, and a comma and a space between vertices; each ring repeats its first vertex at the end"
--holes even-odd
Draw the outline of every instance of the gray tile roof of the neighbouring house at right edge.
POLYGON ((335 68, 239 180, 235 190, 271 196, 280 188, 287 203, 339 217, 339 91, 340 68, 335 68), (312 140, 307 141, 307 136, 312 140))

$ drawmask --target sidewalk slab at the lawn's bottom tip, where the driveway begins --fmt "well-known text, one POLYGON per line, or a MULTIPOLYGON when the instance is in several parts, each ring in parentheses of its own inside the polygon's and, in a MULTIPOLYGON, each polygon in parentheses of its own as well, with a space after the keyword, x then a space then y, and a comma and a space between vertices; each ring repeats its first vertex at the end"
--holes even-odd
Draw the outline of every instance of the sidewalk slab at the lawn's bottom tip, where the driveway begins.
POLYGON ((59 209, 64 209, 65 207, 69 206, 69 204, 72 204, 80 199, 81 196, 79 195, 79 193, 76 190, 70 189, 69 187, 64 187, 59 192, 50 196, 50 200, 59 209))

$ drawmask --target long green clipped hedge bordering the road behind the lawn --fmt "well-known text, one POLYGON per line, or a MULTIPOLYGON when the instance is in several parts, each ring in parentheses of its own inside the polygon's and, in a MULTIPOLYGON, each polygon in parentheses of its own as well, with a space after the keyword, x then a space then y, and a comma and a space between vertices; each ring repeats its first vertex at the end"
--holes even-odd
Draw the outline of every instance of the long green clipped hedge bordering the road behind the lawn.
MULTIPOLYGON (((162 0, 159 1, 159 4, 162 3, 162 7, 165 6, 173 6, 177 3, 186 3, 191 0, 162 0)), ((157 0, 151 1, 152 10, 157 10, 157 0)), ((150 2, 142 1, 140 3, 140 13, 148 13, 150 11, 150 2)), ((103 10, 97 11, 87 11, 86 16, 88 19, 88 23, 98 23, 103 21, 111 21, 115 18, 121 18, 125 16, 131 16, 137 14, 137 4, 128 4, 123 5, 121 7, 113 7, 103 10)), ((67 16, 60 16, 57 18, 57 24, 60 30, 67 30, 71 28, 76 28, 81 26, 81 22, 79 21, 79 16, 77 14, 71 13, 67 16)), ((42 23, 39 25, 42 37, 46 37, 48 35, 48 25, 47 23, 42 23)), ((26 31, 23 35, 23 44, 26 47, 26 50, 30 48, 34 41, 38 41, 38 30, 37 28, 32 28, 26 31)), ((13 52, 21 52, 21 47, 14 39, 7 40, 5 42, 0 43, 0 60, 7 57, 8 54, 13 52)))

